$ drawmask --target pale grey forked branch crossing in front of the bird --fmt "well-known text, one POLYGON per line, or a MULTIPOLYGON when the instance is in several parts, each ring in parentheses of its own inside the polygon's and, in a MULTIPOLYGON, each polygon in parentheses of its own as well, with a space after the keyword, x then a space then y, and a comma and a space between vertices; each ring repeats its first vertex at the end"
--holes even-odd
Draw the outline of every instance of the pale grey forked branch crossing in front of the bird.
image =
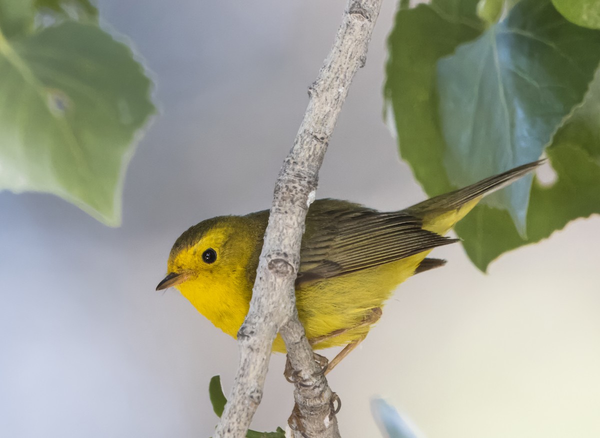
POLYGON ((262 398, 272 342, 281 333, 296 376, 296 436, 338 437, 332 392, 298 320, 294 283, 304 219, 318 172, 352 78, 365 64, 382 0, 349 0, 334 45, 310 96, 292 150, 283 163, 260 255, 250 311, 238 332, 240 363, 215 438, 245 436, 262 398))

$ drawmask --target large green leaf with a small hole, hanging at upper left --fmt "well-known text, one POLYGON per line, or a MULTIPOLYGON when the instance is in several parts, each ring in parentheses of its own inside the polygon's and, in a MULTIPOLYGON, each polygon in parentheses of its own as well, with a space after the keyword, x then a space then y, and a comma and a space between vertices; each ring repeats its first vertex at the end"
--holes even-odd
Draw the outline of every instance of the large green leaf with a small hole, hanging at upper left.
POLYGON ((0 190, 54 193, 119 225, 134 139, 155 112, 131 49, 71 21, 0 34, 0 77, 0 190))

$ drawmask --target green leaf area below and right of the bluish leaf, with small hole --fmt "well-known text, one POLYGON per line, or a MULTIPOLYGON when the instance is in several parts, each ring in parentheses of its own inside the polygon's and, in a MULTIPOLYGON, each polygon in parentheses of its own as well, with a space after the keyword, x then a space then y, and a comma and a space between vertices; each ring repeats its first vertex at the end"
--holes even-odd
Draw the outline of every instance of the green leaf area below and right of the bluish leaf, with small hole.
POLYGON ((535 180, 527 211, 527 239, 505 210, 478 205, 455 227, 473 263, 481 270, 500 254, 538 242, 577 217, 600 213, 600 76, 583 106, 575 109, 547 148, 556 172, 551 186, 535 180))

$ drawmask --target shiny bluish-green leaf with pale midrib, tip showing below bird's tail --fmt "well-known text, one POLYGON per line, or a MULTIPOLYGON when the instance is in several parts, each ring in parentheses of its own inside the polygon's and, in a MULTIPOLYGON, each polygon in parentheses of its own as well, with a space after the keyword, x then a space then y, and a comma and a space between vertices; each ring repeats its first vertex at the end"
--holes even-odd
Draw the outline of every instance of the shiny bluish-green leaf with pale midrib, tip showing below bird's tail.
MULTIPOLYGON (((505 20, 438 62, 445 164, 462 187, 541 156, 583 100, 600 32, 567 22, 550 1, 523 0, 505 20), (535 56, 532 54, 535 53, 535 56)), ((531 177, 485 199, 525 231, 531 177)))

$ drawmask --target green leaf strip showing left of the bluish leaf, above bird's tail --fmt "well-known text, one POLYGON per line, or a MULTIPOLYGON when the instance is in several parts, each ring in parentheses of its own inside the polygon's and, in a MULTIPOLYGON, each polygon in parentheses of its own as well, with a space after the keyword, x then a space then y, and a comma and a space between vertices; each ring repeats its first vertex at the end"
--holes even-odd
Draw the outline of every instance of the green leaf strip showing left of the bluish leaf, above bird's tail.
POLYGON ((401 157, 429 195, 448 191, 445 141, 437 116, 436 62, 481 34, 477 0, 434 2, 396 14, 388 39, 384 93, 388 124, 401 157))

